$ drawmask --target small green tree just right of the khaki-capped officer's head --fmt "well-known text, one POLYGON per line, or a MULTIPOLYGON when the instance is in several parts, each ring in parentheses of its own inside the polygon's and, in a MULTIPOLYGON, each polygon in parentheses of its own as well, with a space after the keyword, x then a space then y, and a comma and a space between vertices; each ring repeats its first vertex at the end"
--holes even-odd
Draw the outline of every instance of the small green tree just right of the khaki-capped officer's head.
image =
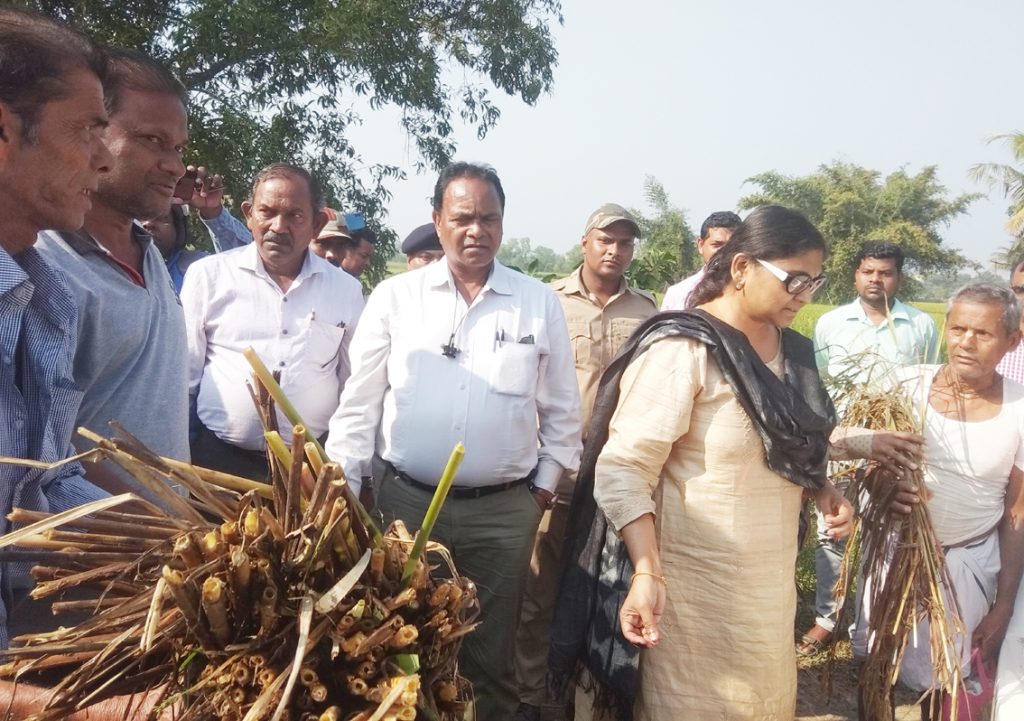
POLYGON ((632 211, 641 240, 628 278, 638 288, 664 292, 697 268, 693 230, 686 223, 686 213, 672 205, 665 185, 653 176, 644 180, 644 198, 652 212, 632 211))

